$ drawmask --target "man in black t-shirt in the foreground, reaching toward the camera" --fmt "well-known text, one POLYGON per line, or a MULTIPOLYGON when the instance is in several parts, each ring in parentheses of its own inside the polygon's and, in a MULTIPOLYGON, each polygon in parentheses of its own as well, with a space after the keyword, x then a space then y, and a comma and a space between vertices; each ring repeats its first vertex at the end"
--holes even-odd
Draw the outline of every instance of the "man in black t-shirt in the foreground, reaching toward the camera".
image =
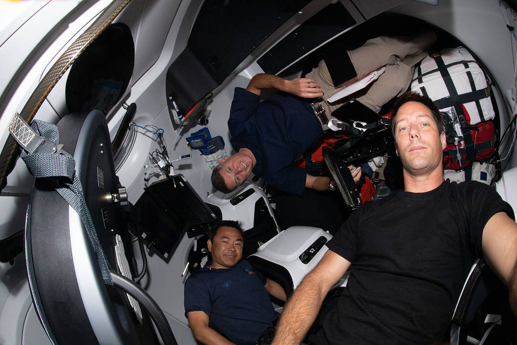
POLYGON ((445 133, 429 98, 406 93, 393 113, 405 190, 365 203, 343 224, 286 304, 273 344, 299 344, 348 270, 347 289, 323 316, 313 343, 441 342, 476 257, 506 284, 517 314, 517 224, 510 205, 481 183, 444 182, 445 133))

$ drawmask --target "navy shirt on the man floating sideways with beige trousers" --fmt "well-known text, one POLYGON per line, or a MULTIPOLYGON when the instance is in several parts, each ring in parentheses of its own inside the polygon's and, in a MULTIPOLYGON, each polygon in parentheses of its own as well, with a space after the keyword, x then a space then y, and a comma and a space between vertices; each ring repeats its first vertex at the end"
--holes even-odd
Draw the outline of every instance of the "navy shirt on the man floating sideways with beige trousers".
POLYGON ((323 136, 320 121, 307 102, 292 96, 260 97, 236 87, 228 128, 235 151, 246 147, 257 164, 253 173, 281 190, 301 195, 306 171, 293 162, 323 136))

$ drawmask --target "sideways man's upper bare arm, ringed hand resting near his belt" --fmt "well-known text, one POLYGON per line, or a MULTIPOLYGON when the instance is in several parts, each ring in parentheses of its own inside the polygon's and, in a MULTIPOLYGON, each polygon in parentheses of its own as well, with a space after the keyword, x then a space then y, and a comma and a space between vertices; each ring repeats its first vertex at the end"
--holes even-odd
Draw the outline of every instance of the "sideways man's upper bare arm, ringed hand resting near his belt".
POLYGON ((255 76, 251 78, 248 87, 246 87, 246 91, 260 96, 261 91, 265 88, 276 88, 277 90, 288 92, 303 98, 323 96, 320 84, 316 83, 314 79, 297 78, 287 80, 274 76, 273 74, 266 73, 255 74, 255 76))

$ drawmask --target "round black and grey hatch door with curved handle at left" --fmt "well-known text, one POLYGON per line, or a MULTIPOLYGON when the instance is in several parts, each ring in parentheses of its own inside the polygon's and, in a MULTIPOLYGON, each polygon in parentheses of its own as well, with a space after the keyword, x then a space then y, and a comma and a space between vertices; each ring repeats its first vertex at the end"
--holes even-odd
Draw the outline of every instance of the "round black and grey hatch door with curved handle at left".
POLYGON ((158 344, 154 321, 163 342, 176 344, 156 302, 117 271, 119 258, 131 259, 132 254, 124 213, 108 198, 119 186, 104 114, 70 114, 57 129, 59 142, 74 158, 113 286, 101 276, 95 241, 81 217, 55 190, 66 185, 38 178, 27 209, 25 250, 31 294, 45 332, 56 344, 158 344), (116 242, 125 255, 117 256, 116 242), (136 302, 128 294, 141 309, 132 307, 136 302))

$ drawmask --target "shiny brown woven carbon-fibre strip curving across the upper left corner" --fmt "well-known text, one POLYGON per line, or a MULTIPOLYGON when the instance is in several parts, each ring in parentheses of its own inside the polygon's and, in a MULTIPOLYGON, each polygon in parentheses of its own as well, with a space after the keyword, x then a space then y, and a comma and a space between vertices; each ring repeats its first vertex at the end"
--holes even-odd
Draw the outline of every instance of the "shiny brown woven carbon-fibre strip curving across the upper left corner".
MULTIPOLYGON (((20 117, 26 123, 31 123, 39 107, 47 98, 52 88, 59 79, 65 74, 72 63, 81 55, 88 45, 95 40, 100 33, 115 19, 131 0, 113 0, 97 17, 84 33, 81 34, 67 50, 61 55, 32 93, 25 103, 20 117)), ((7 175, 9 175, 16 165, 19 156, 19 149, 16 141, 8 136, 0 154, 0 190, 7 185, 7 175)))

